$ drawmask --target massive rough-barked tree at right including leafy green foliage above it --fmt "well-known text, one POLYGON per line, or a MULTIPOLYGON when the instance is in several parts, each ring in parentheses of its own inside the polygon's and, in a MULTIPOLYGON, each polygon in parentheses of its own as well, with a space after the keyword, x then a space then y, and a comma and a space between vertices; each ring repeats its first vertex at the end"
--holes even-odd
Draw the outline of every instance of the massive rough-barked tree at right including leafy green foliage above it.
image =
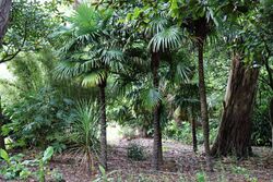
POLYGON ((229 7, 237 8, 232 9, 232 12, 222 9, 228 17, 224 36, 234 49, 218 135, 211 150, 213 156, 234 154, 244 158, 251 154, 251 117, 260 65, 265 65, 269 83, 272 83, 269 64, 272 56, 268 47, 272 41, 272 23, 269 23, 272 17, 269 15, 271 11, 266 10, 272 9, 272 3, 262 2, 250 1, 239 5, 230 2, 229 7), (240 32, 242 26, 244 32, 240 32))

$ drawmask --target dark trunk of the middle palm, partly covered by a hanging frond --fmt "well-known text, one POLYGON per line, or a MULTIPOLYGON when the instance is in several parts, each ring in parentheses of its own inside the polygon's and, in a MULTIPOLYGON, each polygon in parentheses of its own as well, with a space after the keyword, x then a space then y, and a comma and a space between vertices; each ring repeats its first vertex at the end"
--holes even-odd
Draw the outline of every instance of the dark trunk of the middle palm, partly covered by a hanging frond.
MULTIPOLYGON (((159 54, 158 52, 152 53, 152 71, 153 71, 153 84, 154 87, 159 89, 159 54)), ((159 92, 159 90, 158 90, 159 92)), ((154 107, 154 146, 153 146, 153 161, 152 166, 155 170, 159 169, 159 166, 163 163, 163 153, 162 153, 162 129, 161 129, 161 108, 162 102, 159 101, 154 107)))

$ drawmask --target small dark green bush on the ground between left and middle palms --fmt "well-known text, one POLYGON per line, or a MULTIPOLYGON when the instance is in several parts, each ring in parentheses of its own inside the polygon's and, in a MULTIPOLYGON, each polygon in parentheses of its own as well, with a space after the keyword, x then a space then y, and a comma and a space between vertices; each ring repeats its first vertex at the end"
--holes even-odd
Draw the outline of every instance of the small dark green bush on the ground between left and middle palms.
POLYGON ((130 143, 127 147, 127 157, 132 160, 144 160, 144 148, 138 144, 130 143))

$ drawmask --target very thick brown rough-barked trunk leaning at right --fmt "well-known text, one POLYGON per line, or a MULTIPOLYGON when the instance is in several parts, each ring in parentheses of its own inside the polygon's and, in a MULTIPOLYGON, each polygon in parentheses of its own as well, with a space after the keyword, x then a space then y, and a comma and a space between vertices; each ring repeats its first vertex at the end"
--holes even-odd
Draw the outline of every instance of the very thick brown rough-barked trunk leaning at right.
POLYGON ((259 70, 244 64, 235 53, 232 62, 224 111, 212 155, 250 155, 251 113, 256 97, 259 70))

